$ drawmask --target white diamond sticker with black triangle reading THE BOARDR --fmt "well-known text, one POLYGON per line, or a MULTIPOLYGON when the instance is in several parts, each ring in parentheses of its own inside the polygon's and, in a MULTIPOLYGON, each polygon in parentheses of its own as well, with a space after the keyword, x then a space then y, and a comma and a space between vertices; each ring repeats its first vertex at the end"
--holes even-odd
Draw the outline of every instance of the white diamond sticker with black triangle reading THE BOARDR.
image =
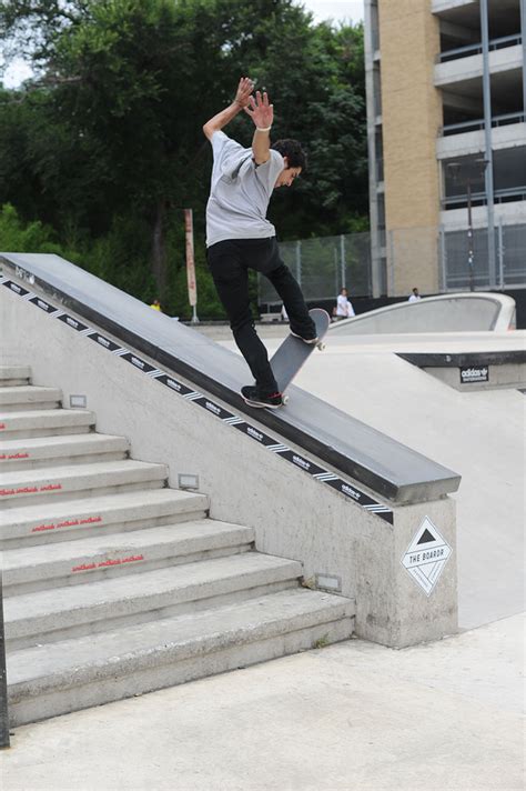
POLYGON ((402 565, 429 597, 453 553, 452 548, 426 517, 401 559, 402 565))

